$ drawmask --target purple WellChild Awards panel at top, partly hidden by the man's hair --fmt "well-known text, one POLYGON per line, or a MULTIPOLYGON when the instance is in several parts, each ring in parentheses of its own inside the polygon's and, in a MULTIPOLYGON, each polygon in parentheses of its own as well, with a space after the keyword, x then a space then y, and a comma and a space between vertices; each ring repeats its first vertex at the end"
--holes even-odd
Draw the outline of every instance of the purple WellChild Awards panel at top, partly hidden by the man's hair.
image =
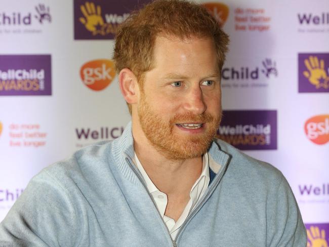
POLYGON ((130 12, 150 0, 74 0, 74 39, 113 39, 130 12))

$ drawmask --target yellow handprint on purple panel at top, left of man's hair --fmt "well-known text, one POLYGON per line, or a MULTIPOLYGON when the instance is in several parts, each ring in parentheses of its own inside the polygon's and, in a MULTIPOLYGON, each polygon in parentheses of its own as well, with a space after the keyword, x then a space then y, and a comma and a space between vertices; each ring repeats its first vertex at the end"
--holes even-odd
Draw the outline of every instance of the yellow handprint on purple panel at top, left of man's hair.
POLYGON ((97 10, 95 8, 94 3, 86 2, 85 6, 81 5, 80 10, 83 13, 84 17, 80 17, 79 21, 85 25, 87 30, 91 31, 93 35, 100 33, 104 35, 104 20, 101 16, 101 7, 97 6, 97 10))

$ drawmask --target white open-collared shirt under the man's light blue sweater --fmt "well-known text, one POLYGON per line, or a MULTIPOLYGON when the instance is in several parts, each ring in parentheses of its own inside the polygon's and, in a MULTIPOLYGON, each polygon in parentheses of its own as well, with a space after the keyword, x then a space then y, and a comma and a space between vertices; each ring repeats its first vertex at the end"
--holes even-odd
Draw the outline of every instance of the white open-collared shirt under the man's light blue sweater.
POLYGON ((183 222, 185 221, 187 216, 192 212, 192 210, 195 208, 195 206, 197 205, 197 202, 199 202, 202 195, 208 188, 209 181, 210 181, 208 152, 202 156, 201 175, 193 184, 192 189, 190 191, 190 199, 187 202, 186 207, 185 207, 182 215, 177 220, 177 222, 175 222, 174 219, 165 215, 165 211, 166 211, 167 203, 168 203, 167 194, 159 191, 158 188, 156 188, 156 186, 153 184, 153 182, 151 181, 151 179, 148 177, 147 173, 145 172, 136 153, 135 153, 135 161, 136 161, 136 166, 137 166, 138 170, 140 171, 140 173, 142 174, 142 176, 145 180, 147 189, 149 190, 150 194, 152 195, 152 197, 155 201, 157 210, 159 211, 163 221, 166 223, 166 225, 169 229, 170 235, 172 236, 172 239, 175 239, 183 222))

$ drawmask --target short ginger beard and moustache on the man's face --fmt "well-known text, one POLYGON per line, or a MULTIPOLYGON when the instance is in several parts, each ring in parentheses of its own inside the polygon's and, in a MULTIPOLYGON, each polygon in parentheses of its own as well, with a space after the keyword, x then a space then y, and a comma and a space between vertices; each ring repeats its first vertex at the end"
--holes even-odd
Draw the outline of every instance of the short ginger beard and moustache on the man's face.
POLYGON ((138 105, 138 116, 141 128, 151 145, 163 156, 171 160, 196 158, 207 152, 219 127, 221 114, 217 117, 209 113, 200 115, 186 112, 176 114, 169 121, 163 120, 147 103, 144 92, 138 105), (200 134, 178 134, 174 131, 177 123, 204 123, 200 134))

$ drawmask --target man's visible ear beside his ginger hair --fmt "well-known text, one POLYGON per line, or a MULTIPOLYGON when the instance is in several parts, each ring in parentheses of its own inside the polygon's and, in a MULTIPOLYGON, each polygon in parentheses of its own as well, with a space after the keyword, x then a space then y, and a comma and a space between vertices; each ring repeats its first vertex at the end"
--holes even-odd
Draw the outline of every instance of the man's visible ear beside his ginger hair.
POLYGON ((128 68, 119 73, 119 86, 121 94, 129 104, 135 104, 139 99, 139 87, 135 74, 128 68))

